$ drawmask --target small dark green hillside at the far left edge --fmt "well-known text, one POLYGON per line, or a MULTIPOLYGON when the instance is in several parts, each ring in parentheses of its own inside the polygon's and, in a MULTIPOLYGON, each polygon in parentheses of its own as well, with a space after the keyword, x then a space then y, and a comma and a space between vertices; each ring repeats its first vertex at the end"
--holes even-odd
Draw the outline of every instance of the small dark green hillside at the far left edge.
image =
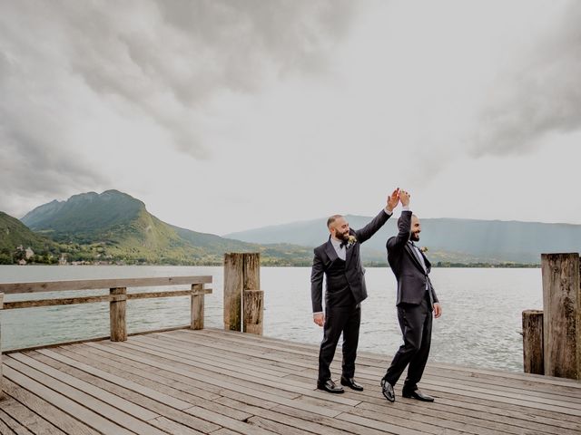
POLYGON ((14 263, 15 256, 16 260, 25 257, 25 252, 17 249, 20 246, 30 247, 40 256, 53 254, 57 258, 59 252, 52 240, 35 234, 18 219, 0 211, 0 264, 14 263))

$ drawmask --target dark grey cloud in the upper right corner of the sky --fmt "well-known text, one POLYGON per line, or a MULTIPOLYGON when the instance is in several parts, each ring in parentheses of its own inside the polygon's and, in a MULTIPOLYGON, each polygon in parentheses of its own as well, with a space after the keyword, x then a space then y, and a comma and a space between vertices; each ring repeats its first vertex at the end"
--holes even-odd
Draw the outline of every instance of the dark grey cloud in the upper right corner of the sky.
POLYGON ((491 90, 470 150, 475 156, 535 149, 549 133, 581 128, 581 4, 491 90))

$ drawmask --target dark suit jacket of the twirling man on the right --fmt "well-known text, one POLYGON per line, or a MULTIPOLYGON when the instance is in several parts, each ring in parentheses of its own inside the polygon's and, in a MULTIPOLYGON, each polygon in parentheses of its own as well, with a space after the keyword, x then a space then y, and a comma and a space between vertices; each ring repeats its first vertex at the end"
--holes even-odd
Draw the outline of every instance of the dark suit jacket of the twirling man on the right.
POLYGON ((438 302, 436 291, 429 280, 431 264, 428 258, 424 257, 427 270, 419 263, 419 259, 414 255, 412 247, 409 246, 409 235, 411 230, 411 211, 402 211, 399 220, 398 236, 390 237, 387 243, 388 262, 391 271, 398 280, 398 300, 399 304, 421 304, 426 295, 426 286, 431 293, 434 304, 438 302))

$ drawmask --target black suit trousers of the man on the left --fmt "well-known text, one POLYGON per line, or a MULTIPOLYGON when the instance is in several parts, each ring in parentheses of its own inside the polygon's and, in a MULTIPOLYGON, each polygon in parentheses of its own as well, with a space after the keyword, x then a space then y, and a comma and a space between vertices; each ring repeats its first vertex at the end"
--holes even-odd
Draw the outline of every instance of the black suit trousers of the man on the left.
POLYGON ((346 378, 353 377, 360 323, 361 307, 359 304, 327 307, 323 326, 323 341, 320 343, 319 352, 319 381, 324 382, 330 379, 330 363, 335 356, 341 333, 343 334, 342 375, 346 378))

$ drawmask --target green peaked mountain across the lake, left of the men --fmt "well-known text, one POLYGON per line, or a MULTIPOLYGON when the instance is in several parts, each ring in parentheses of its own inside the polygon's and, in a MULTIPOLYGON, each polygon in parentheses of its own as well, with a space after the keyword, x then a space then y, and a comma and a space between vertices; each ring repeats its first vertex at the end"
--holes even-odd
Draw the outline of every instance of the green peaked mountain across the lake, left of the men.
POLYGON ((139 199, 118 190, 74 195, 34 208, 22 222, 66 247, 70 259, 148 264, 221 264, 224 252, 261 252, 264 264, 310 261, 310 249, 261 247, 174 227, 154 217, 139 199), (291 253, 291 255, 290 255, 291 253))

